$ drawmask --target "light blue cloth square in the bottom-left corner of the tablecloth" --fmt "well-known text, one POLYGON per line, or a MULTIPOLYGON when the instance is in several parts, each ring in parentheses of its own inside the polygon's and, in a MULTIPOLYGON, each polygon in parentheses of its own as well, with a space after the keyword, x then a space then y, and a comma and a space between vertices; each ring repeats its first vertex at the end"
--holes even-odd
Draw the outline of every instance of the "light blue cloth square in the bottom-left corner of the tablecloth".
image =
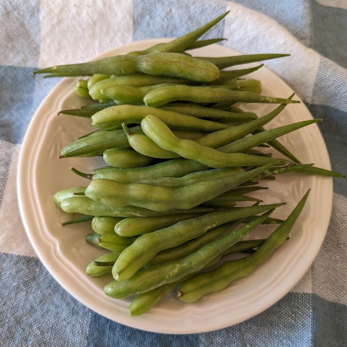
POLYGON ((0 283, 1 346, 85 346, 90 310, 39 259, 0 253, 0 283))

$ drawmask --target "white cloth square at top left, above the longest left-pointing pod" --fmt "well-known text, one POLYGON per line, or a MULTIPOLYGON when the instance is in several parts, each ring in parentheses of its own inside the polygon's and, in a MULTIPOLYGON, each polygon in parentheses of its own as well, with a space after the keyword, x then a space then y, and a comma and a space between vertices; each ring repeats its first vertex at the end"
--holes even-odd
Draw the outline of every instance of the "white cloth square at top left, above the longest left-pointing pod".
POLYGON ((39 66, 85 62, 132 42, 132 6, 131 0, 42 0, 39 66))

